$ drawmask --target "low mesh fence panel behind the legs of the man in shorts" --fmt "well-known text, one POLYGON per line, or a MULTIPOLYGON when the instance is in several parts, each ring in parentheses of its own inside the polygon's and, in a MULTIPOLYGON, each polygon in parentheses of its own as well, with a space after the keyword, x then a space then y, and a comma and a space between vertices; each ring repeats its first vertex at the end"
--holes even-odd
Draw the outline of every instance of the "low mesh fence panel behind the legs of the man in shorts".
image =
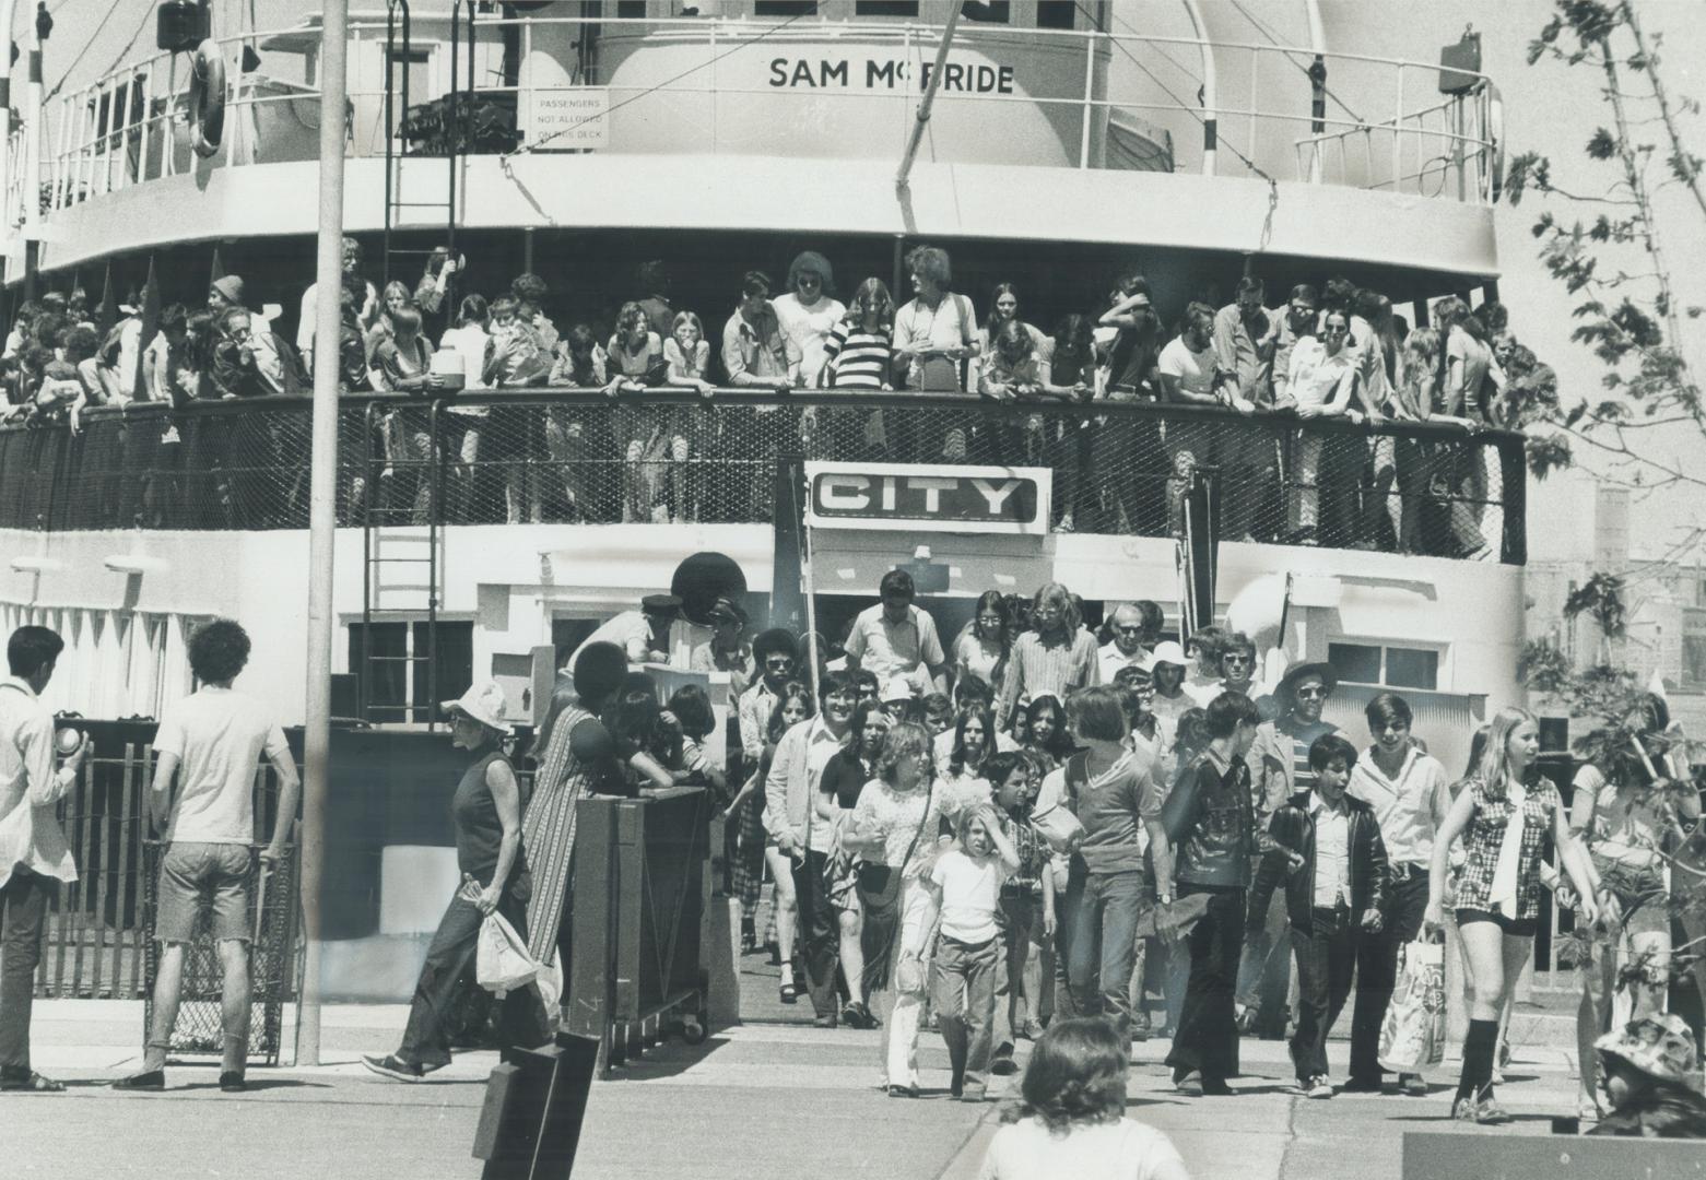
MULTIPOLYGON (((148 841, 143 847, 143 929, 147 933, 147 1003, 143 1028, 154 1025, 154 980, 160 943, 154 938, 159 914, 160 859, 165 846, 148 841)), ((249 916, 254 941, 249 945, 249 1061, 276 1066, 283 1033, 285 1004, 297 994, 297 856, 288 849, 275 865, 261 865, 259 847, 249 849, 249 916)), ((220 1054, 223 1020, 220 989, 223 970, 206 905, 196 917, 196 933, 184 948, 184 974, 171 1052, 220 1054)))

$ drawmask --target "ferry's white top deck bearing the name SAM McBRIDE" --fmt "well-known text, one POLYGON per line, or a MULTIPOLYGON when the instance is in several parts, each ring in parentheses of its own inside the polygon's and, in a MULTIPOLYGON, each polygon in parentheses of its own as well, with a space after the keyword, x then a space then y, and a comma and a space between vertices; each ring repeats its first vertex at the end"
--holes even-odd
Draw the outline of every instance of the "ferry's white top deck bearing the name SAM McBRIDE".
MULTIPOLYGON (((986 5, 1007 19, 960 22, 897 189, 942 38, 920 5, 560 9, 503 20, 459 5, 456 22, 416 10, 406 48, 401 20, 355 14, 351 232, 384 225, 389 181, 403 194, 394 225, 421 228, 445 223, 454 186, 467 228, 834 227, 1218 249, 1413 268, 1430 276, 1418 293, 1498 273, 1501 131, 1481 75, 1442 94, 1433 63, 1138 32, 1107 5, 1065 5, 1065 20, 1051 5, 986 5), (452 89, 457 119, 479 130, 447 167, 452 89), (1329 101, 1346 94, 1361 118, 1329 101)), ((26 131, 14 136, 7 210, 20 220, 34 188, 26 235, 41 240, 41 268, 314 230, 314 203, 280 194, 314 186, 317 17, 218 46, 230 94, 212 157, 191 150, 186 55, 138 58, 56 99, 34 176, 26 131)), ((15 242, 9 280, 20 257, 15 242)))

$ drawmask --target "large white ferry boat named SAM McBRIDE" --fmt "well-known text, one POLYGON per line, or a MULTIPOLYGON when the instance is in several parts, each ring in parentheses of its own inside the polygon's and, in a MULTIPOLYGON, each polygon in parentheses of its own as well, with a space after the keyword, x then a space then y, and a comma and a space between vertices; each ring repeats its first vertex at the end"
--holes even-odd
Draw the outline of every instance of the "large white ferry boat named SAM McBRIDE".
MULTIPOLYGON (((966 3, 938 58, 950 5, 935 2, 394 0, 351 12, 350 101, 329 116, 348 123, 345 227, 374 285, 413 285, 433 247, 466 257, 457 293, 541 275, 560 329, 609 324, 616 305, 652 293, 630 278, 636 264, 664 259, 670 304, 703 315, 713 351, 742 273, 780 280, 802 249, 831 259, 843 300, 879 276, 904 302, 904 252, 943 247, 954 290, 979 315, 991 286, 1010 281, 1022 317, 1044 331, 1068 312, 1105 309, 1123 269, 1148 276, 1169 321, 1204 293, 1230 304, 1242 275, 1266 281, 1269 307, 1293 283, 1344 275, 1413 322, 1445 295, 1494 298, 1494 82, 1472 63, 1447 70, 1346 51, 1314 0, 1291 7, 1309 17, 1303 44, 1215 29, 1194 0, 1158 26, 1100 0, 966 3), (931 80, 933 111, 897 182, 931 80), (1338 104, 1346 94, 1392 114, 1356 121, 1338 104)), ((107 20, 152 22, 152 9, 118 0, 107 20)), ((181 48, 136 49, 39 111, 26 95, 3 186, 10 309, 73 285, 90 305, 104 290, 152 285, 160 302, 198 307, 212 276, 234 273, 246 302, 293 336, 314 278, 317 128, 328 118, 319 15, 310 0, 264 9, 266 27, 194 29, 193 14, 176 12, 181 48)), ((56 38, 49 46, 49 60, 70 53, 56 38)), ((14 101, 22 92, 14 85, 14 101)), ((1046 581, 1082 595, 1092 619, 1152 599, 1177 633, 1189 595, 1170 522, 1104 513, 1100 525, 1059 530, 1047 506, 1059 472, 1027 437, 1037 423, 1129 418, 1283 452, 1305 430, 1285 416, 1175 406, 1015 409, 904 392, 860 402, 814 390, 660 392, 655 404, 679 416, 694 447, 682 467, 691 508, 676 503, 669 520, 623 520, 614 489, 626 464, 614 450, 589 447, 566 462, 543 442, 565 425, 604 438, 626 402, 549 389, 432 406, 348 397, 334 650, 350 691, 338 711, 423 726, 433 701, 496 675, 532 720, 553 653, 669 590, 691 554, 739 570, 725 587, 744 595, 754 622, 798 619, 809 587, 810 617, 829 636, 897 564, 937 576, 921 604, 943 634, 959 631, 978 593, 1046 581), (848 448, 846 433, 800 433, 807 409, 827 418, 850 406, 880 409, 891 433, 978 435, 964 459, 923 459, 950 483, 988 476, 981 467, 1018 472, 1032 501, 991 523, 925 506, 923 495, 885 513, 875 495, 863 500, 877 508, 838 517, 838 474, 916 474, 848 448), (467 409, 488 411, 488 459, 464 469, 438 455, 413 476, 377 459, 394 413, 438 426, 467 409), (786 466, 793 452, 804 469, 786 466), (379 484, 409 477, 428 488, 423 508, 396 488, 387 503, 379 484), (565 479, 582 481, 578 498, 565 479)), ((1472 721, 1522 699, 1522 442, 1426 425, 1320 430, 1477 455, 1489 472, 1477 506, 1489 544, 1472 558, 1290 544, 1290 486, 1274 488, 1259 541, 1213 547, 1215 612, 1261 621, 1264 646, 1293 660, 1331 660, 1341 689, 1329 718, 1353 733, 1370 694, 1402 691, 1418 733, 1460 766, 1472 721)), ((189 628, 230 616, 254 638, 244 687, 302 721, 307 438, 305 397, 92 409, 75 435, 0 428, 0 626, 36 621, 67 638, 55 708, 157 716, 191 689, 189 628)), ((1080 476, 1163 498, 1172 472, 1116 455, 1111 469, 1080 476)), ((406 892, 396 873, 382 894, 406 892)), ((351 946, 380 933, 350 931, 351 946)), ((394 977, 387 987, 406 989, 406 970, 394 977)))

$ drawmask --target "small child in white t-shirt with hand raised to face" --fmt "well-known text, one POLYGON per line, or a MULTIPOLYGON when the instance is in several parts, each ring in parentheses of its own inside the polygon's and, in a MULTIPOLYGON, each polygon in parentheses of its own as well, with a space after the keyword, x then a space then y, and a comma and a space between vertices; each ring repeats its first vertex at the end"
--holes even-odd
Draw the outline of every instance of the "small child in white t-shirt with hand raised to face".
POLYGON ((960 820, 959 847, 930 870, 928 885, 942 914, 931 1003, 949 1045, 949 1091, 983 1102, 995 1035, 995 977, 1001 958, 1001 885, 1018 871, 1018 851, 988 803, 960 820))

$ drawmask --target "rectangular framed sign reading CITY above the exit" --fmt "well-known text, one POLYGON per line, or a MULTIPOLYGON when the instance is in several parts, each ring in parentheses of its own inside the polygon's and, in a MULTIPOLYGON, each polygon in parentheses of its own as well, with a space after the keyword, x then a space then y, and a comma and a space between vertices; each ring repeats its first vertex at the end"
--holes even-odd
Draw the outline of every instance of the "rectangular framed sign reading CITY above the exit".
POLYGON ((1049 483, 1047 467, 807 462, 805 522, 1041 537, 1049 530, 1049 483))

